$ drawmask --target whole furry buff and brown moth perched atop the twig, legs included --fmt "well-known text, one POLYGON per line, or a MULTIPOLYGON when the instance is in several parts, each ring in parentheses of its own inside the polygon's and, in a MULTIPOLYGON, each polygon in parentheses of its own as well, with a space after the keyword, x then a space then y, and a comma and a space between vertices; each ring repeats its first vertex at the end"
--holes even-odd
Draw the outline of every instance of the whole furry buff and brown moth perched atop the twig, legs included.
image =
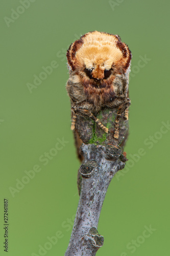
POLYGON ((102 109, 117 109, 114 138, 118 139, 119 118, 129 113, 129 72, 132 54, 118 35, 92 31, 73 42, 67 50, 69 79, 66 90, 71 101, 71 130, 77 116, 89 117, 108 133, 98 118, 102 109))

